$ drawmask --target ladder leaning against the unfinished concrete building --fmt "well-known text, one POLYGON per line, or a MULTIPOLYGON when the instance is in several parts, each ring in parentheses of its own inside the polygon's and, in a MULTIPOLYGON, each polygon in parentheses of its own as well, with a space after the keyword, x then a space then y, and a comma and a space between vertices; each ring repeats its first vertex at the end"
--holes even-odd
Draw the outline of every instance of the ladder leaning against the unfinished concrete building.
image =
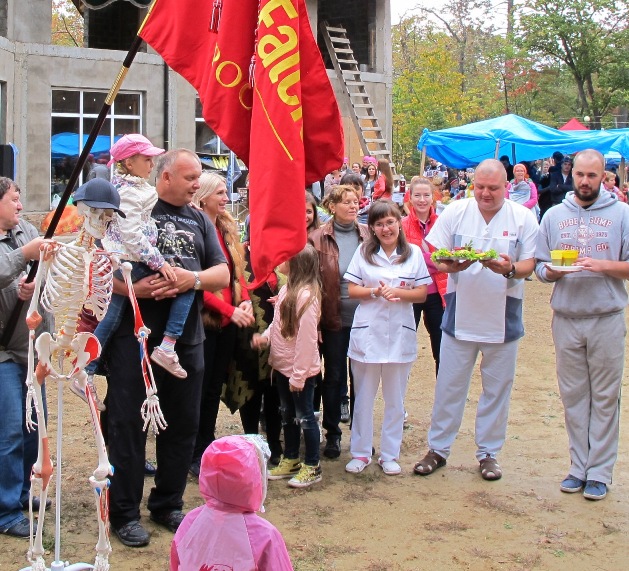
POLYGON ((343 96, 351 109, 352 122, 363 154, 386 159, 391 163, 391 152, 387 148, 387 140, 378 123, 365 84, 360 78, 360 69, 354 58, 347 30, 338 25, 330 26, 327 22, 321 22, 319 27, 341 83, 343 96))

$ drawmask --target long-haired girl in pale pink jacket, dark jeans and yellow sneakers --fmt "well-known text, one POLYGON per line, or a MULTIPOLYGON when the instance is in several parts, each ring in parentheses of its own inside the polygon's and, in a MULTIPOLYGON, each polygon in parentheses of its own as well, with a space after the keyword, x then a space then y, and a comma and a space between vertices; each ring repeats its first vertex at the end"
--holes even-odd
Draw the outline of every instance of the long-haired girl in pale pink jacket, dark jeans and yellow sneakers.
POLYGON ((321 279, 314 246, 306 244, 280 271, 288 274, 288 282, 278 294, 273 322, 262 335, 254 334, 251 344, 257 349, 271 345, 269 362, 280 393, 284 455, 269 472, 269 480, 290 478, 289 486, 305 488, 321 481, 319 423, 313 407, 316 377, 321 371, 317 333, 321 279), (303 464, 299 459, 302 429, 303 464))

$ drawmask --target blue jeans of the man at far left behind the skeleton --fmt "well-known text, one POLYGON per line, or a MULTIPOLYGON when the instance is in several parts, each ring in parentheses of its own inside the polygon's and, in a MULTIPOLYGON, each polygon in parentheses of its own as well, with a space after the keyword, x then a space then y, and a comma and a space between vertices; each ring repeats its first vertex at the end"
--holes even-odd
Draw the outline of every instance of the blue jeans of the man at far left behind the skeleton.
MULTIPOLYGON (((26 430, 25 380, 25 365, 0 363, 0 530, 24 518, 21 503, 28 499, 31 468, 37 460, 37 431, 26 430)), ((45 414, 43 387, 42 392, 45 414)))

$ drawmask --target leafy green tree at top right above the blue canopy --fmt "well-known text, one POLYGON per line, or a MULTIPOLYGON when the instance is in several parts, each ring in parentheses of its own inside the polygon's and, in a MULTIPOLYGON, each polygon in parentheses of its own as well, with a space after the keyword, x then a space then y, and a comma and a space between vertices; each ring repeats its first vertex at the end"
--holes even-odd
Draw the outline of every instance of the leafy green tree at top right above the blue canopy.
POLYGON ((629 95, 629 3, 626 0, 526 0, 519 39, 546 67, 567 69, 577 90, 576 115, 590 126, 629 95))

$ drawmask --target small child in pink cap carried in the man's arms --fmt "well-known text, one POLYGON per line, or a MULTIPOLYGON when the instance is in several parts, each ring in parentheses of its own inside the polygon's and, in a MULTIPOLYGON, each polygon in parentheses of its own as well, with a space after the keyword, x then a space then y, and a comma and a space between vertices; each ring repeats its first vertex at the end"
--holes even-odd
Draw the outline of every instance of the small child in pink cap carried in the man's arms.
MULTIPOLYGON (((157 226, 151 218, 157 202, 157 191, 149 184, 148 178, 153 170, 153 158, 164 153, 164 149, 154 146, 144 135, 134 133, 121 137, 109 153, 111 160, 107 163, 108 166, 116 164, 111 183, 120 193, 120 209, 126 214, 126 218, 114 217, 107 228, 107 235, 103 238, 103 246, 109 252, 117 254, 121 260, 132 262, 131 279, 134 282, 154 273, 159 273, 172 282, 177 281, 173 266, 164 259, 156 246, 157 226)), ((154 363, 180 379, 185 379, 187 373, 179 364, 175 343, 183 332, 194 294, 194 290, 189 290, 173 300, 164 339, 151 354, 154 363)), ((105 318, 94 331, 103 352, 120 325, 127 301, 127 297, 113 294, 105 318)), ((85 369, 88 384, 92 387, 98 364, 99 359, 96 359, 85 369)), ((78 385, 70 388, 85 400, 85 394, 78 385)), ((95 398, 99 410, 105 410, 100 399, 97 396, 95 398)))

